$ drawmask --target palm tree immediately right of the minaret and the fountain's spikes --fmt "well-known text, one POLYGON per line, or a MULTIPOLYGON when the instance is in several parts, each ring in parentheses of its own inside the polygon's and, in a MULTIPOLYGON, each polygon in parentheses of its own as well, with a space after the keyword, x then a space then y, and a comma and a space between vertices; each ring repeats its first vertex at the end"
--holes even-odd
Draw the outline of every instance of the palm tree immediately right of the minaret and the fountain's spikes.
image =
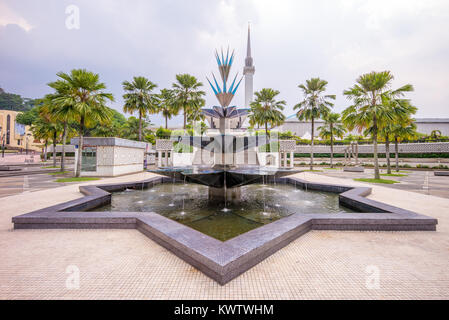
POLYGON ((256 98, 251 102, 250 122, 265 126, 265 135, 268 137, 268 125, 271 128, 281 125, 285 121, 285 115, 282 113, 286 102, 277 101, 278 90, 263 88, 255 92, 256 98))

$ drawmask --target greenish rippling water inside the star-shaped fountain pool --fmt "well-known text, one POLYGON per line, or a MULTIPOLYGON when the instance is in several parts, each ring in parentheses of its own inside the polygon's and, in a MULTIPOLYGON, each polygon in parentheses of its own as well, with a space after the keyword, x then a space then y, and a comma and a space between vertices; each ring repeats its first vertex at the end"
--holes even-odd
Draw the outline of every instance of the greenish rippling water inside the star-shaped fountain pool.
POLYGON ((113 193, 109 205, 94 211, 156 212, 221 241, 293 213, 352 212, 340 206, 333 193, 305 191, 288 184, 252 184, 241 189, 240 201, 225 205, 209 201, 206 186, 159 184, 113 193))

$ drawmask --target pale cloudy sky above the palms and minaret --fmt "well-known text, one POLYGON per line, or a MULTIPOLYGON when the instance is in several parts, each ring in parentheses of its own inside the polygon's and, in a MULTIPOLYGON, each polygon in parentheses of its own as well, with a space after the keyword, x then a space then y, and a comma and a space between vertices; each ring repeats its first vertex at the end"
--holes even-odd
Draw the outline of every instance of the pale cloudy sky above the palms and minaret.
MULTIPOLYGON (((235 49, 231 75, 242 74, 248 23, 254 90, 279 90, 287 116, 311 77, 329 82, 341 112, 350 105, 343 91, 358 76, 390 70, 393 88, 414 85, 416 117, 449 118, 447 0, 0 0, 0 87, 38 98, 57 72, 86 68, 121 111, 124 80, 145 76, 159 90, 189 73, 203 82, 210 107, 218 104, 206 80, 218 75, 214 51, 235 49)), ((243 83, 233 104, 244 104, 243 83)))

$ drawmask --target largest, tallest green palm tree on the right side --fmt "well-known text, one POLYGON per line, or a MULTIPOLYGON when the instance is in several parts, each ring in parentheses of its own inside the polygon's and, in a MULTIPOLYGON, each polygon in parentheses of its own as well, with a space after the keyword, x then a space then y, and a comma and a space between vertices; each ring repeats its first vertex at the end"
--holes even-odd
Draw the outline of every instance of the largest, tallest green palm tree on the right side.
MULTIPOLYGON (((412 85, 405 85, 397 90, 389 90, 393 75, 390 71, 371 72, 361 75, 357 83, 343 94, 353 101, 353 105, 343 111, 343 122, 349 130, 366 129, 373 139, 374 146, 374 178, 380 179, 377 140, 381 123, 388 123, 397 119, 401 110, 391 108, 389 100, 399 101, 404 92, 413 91, 412 85)), ((401 103, 395 107, 401 109, 401 103)), ((405 111, 402 112, 405 114, 405 111)))

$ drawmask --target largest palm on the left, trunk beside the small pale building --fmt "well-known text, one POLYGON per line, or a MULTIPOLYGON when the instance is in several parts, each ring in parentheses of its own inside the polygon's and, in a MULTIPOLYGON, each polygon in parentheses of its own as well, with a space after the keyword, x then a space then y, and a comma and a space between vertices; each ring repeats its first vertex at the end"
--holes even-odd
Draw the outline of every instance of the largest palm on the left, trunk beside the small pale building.
POLYGON ((76 121, 79 122, 79 146, 76 177, 81 174, 82 152, 86 127, 110 121, 111 109, 106 101, 114 101, 111 93, 106 93, 106 85, 100 76, 85 69, 74 69, 70 74, 59 72, 59 78, 67 84, 67 91, 53 99, 57 105, 73 106, 76 121))

